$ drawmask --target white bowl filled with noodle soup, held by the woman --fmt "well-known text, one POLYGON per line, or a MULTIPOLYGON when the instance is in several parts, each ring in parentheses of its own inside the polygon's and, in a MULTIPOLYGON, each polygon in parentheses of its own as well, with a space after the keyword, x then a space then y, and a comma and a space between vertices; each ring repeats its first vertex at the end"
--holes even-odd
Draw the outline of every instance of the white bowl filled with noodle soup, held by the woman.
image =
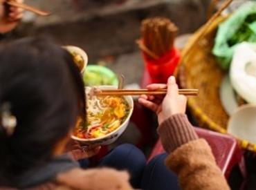
MULTIPOLYGON (((116 86, 98 86, 115 89, 116 86)), ((71 136, 84 145, 107 145, 115 142, 125 131, 134 110, 131 96, 90 96, 86 87, 86 123, 79 119, 71 136)))

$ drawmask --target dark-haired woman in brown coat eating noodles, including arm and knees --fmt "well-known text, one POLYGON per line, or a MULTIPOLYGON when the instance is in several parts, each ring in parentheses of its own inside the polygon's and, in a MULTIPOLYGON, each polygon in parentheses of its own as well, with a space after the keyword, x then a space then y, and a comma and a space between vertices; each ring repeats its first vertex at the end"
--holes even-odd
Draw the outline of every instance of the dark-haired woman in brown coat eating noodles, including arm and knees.
MULTIPOLYGON (((142 96, 140 103, 158 114, 158 133, 170 153, 166 163, 179 175, 181 187, 228 189, 208 144, 197 140, 184 114, 186 99, 175 79, 149 88, 168 90, 164 99, 142 96)), ((0 189, 179 189, 163 164, 166 153, 146 165, 143 153, 131 144, 113 149, 98 164, 103 168, 83 163, 86 169, 81 169, 64 153, 77 117, 85 114, 82 77, 66 50, 38 38, 0 48, 0 189), (125 169, 130 180, 127 172, 104 167, 125 169)))

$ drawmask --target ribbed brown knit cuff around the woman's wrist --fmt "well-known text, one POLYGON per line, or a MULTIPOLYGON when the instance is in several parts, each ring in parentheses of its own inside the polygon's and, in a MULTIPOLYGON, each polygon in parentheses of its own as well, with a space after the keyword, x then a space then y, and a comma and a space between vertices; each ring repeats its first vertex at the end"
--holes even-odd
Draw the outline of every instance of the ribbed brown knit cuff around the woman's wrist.
POLYGON ((165 120, 158 126, 157 132, 167 153, 171 153, 179 146, 199 138, 188 121, 187 115, 182 113, 172 115, 165 120))

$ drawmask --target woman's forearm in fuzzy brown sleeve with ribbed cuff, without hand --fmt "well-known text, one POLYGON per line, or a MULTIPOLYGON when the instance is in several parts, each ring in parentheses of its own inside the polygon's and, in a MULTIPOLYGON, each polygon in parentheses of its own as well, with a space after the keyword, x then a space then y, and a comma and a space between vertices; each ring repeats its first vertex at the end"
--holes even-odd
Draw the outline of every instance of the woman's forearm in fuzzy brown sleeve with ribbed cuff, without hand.
POLYGON ((208 143, 199 139, 185 114, 172 115, 158 127, 167 153, 167 167, 178 177, 183 190, 230 189, 208 143))

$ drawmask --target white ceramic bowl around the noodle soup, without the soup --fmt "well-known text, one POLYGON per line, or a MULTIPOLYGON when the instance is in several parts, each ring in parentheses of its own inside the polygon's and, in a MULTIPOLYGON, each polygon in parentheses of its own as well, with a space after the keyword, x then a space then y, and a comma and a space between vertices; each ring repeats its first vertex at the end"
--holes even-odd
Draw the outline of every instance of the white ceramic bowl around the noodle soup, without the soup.
MULTIPOLYGON (((96 86, 96 87, 100 88, 100 89, 116 89, 116 86, 96 86)), ((78 142, 80 142, 80 144, 84 144, 87 146, 107 145, 107 144, 111 144, 111 143, 115 142, 118 139, 118 137, 120 137, 120 135, 122 135, 122 133, 127 128, 128 124, 129 124, 129 120, 131 118, 131 114, 134 111, 134 100, 132 99, 132 97, 125 96, 125 99, 127 100, 128 104, 129 104, 130 111, 129 111, 129 115, 127 116, 125 122, 123 122, 118 127, 118 129, 116 129, 115 131, 112 131, 111 133, 105 135, 104 137, 82 139, 82 138, 76 137, 75 135, 72 135, 71 138, 73 140, 77 140, 78 142)))

